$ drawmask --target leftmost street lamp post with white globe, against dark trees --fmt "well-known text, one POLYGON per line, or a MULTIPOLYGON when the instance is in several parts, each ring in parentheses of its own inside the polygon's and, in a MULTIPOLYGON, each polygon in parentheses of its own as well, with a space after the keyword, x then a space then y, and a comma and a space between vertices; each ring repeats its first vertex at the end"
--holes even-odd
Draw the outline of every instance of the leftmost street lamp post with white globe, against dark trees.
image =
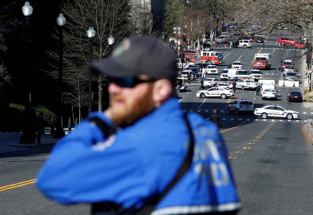
MULTIPOLYGON (((30 64, 30 60, 31 60, 31 57, 30 57, 30 53, 31 53, 31 50, 30 50, 30 45, 31 45, 31 33, 30 33, 30 15, 33 13, 33 7, 30 5, 30 3, 28 1, 25 2, 24 6, 22 6, 22 13, 24 15, 24 19, 25 19, 25 28, 26 28, 26 36, 25 36, 25 47, 26 47, 26 55, 27 55, 27 75, 30 75, 30 67, 31 67, 31 64, 30 64)), ((31 87, 32 85, 28 88, 29 90, 29 103, 31 102, 31 87)))

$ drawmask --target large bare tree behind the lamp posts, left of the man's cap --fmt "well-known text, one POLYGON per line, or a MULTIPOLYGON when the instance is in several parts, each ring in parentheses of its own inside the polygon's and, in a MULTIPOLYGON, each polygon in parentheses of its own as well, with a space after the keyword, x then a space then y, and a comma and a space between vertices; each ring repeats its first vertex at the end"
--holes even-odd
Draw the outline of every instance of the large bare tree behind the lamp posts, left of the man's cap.
MULTIPOLYGON (((67 19, 64 26, 64 83, 67 84, 65 102, 81 110, 88 105, 88 64, 89 42, 87 30, 94 27, 92 57, 95 61, 107 58, 110 53, 108 38, 113 35, 117 44, 125 34, 129 33, 128 0, 67 0, 61 5, 61 11, 67 19)), ((58 40, 58 34, 53 35, 58 40)), ((58 62, 58 51, 48 52, 58 62)), ((54 78, 58 77, 58 65, 48 71, 54 78)), ((103 75, 93 77, 98 83, 98 110, 102 110, 103 75)))

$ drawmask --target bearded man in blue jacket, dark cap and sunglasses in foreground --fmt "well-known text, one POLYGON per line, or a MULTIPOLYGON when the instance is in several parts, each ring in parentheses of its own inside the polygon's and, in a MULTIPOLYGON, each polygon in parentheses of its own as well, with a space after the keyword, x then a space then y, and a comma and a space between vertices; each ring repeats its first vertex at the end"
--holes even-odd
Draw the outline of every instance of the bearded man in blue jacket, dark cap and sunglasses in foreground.
POLYGON ((140 215, 237 213, 241 202, 217 127, 183 113, 173 95, 170 47, 153 37, 126 38, 89 69, 109 80, 109 108, 90 113, 55 145, 37 176, 46 197, 91 203, 93 215, 134 215, 149 204, 151 213, 140 215))

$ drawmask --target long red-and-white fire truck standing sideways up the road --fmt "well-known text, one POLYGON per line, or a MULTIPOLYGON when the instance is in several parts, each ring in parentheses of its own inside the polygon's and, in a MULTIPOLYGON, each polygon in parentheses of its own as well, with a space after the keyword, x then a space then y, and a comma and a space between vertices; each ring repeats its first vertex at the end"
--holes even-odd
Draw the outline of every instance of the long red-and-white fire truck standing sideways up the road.
MULTIPOLYGON (((181 58, 182 52, 179 52, 181 58)), ((208 63, 208 64, 223 64, 223 53, 221 51, 185 51, 184 60, 189 63, 208 63)))

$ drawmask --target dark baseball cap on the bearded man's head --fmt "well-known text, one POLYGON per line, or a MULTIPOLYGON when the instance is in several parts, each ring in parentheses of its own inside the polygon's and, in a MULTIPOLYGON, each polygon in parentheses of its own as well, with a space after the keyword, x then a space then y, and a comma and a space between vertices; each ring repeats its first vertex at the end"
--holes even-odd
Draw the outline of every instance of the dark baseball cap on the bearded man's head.
POLYGON ((168 45, 152 36, 125 38, 110 58, 91 63, 89 69, 112 78, 144 74, 153 80, 168 79, 173 84, 177 78, 174 53, 168 45))

